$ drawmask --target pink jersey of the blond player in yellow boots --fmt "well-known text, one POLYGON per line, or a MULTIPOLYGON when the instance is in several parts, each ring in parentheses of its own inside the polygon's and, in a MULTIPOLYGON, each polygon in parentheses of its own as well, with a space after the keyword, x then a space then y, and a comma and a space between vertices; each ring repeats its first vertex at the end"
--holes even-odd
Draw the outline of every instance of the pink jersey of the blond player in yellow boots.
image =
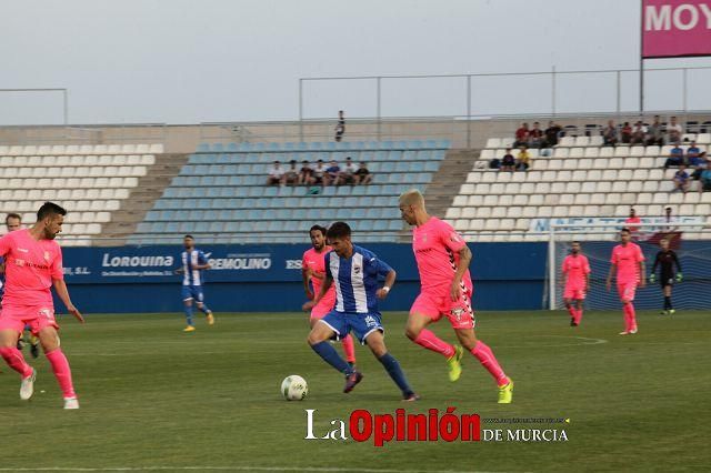
MULTIPOLYGON (((449 291, 459 266, 459 252, 465 245, 464 239, 452 225, 437 217, 431 217, 427 223, 412 231, 412 250, 418 262, 422 292, 449 291)), ((469 270, 462 282, 472 286, 469 270)))

